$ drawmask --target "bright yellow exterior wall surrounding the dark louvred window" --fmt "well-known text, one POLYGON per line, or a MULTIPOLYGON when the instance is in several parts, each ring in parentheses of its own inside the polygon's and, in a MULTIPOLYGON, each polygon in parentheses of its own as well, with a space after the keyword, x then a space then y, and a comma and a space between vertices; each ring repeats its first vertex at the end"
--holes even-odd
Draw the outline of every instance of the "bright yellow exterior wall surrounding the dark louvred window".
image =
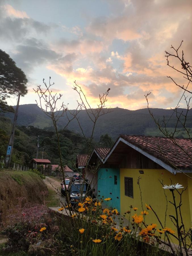
MULTIPOLYGON (((189 185, 189 189, 183 192, 182 196, 182 216, 185 224, 185 228, 191 227, 192 220, 192 180, 187 178, 182 173, 178 173, 176 175, 170 173, 167 170, 151 170, 151 169, 142 169, 144 174, 139 174, 139 170, 141 169, 120 169, 120 199, 121 199, 121 213, 123 214, 127 210, 130 210, 130 205, 133 207, 137 207, 137 214, 139 215, 141 212, 141 197, 139 186, 137 185, 137 179, 140 176, 140 186, 142 191, 142 199, 143 199, 143 208, 145 208, 145 203, 147 205, 151 205, 151 207, 158 214, 161 222, 164 224, 165 218, 165 210, 166 210, 166 199, 164 195, 164 191, 168 197, 168 200, 172 201, 172 193, 169 189, 163 189, 161 183, 158 179, 163 179, 163 183, 166 185, 171 184, 170 178, 172 179, 172 183, 179 183, 186 187, 189 185), (163 172, 163 175, 161 174, 163 172), (133 178, 133 198, 125 196, 125 184, 124 177, 132 177, 133 178), (189 199, 190 197, 190 199, 189 199), (190 202, 189 202, 190 201, 190 202)), ((182 190, 180 190, 182 191, 182 190)), ((179 202, 178 193, 175 192, 176 202, 179 202)), ((158 228, 160 228, 160 224, 155 216, 155 214, 148 210, 149 214, 145 218, 146 224, 156 223, 158 228)), ((174 206, 168 202, 168 214, 166 218, 166 227, 172 228, 176 231, 173 223, 170 221, 168 215, 175 215, 174 206)))

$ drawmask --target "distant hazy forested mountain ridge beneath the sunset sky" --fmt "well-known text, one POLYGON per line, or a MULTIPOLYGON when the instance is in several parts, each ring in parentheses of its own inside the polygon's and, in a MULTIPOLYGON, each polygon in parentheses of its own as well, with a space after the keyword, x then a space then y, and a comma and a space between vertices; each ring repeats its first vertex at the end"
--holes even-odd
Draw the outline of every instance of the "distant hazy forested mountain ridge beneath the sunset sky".
MULTIPOLYGON (((173 110, 166 109, 151 109, 156 119, 166 120, 172 115, 173 110)), ((107 109, 105 109, 107 111, 107 109)), ((119 134, 135 134, 135 135, 158 135, 158 129, 149 115, 147 108, 139 110, 127 110, 122 108, 112 108, 110 113, 99 117, 95 127, 95 140, 98 140, 102 134, 108 133, 113 139, 118 137, 119 134)), ((186 112, 186 109, 178 109, 178 111, 186 112)), ((13 113, 6 113, 5 116, 13 118, 13 113)), ((79 113, 79 120, 81 126, 87 137, 90 136, 91 127, 93 123, 87 116, 85 110, 79 113)), ((192 110, 188 113, 187 127, 192 127, 192 110)), ((66 117, 62 117, 58 123, 59 127, 62 128, 67 122, 66 117)), ((168 127, 172 129, 176 124, 175 114, 168 122, 168 127)), ((52 126, 51 119, 47 117, 36 104, 25 104, 19 106, 17 125, 45 128, 52 126)), ((74 119, 67 127, 71 131, 81 132, 78 122, 74 119)), ((181 132, 180 137, 185 137, 185 133, 181 132)))

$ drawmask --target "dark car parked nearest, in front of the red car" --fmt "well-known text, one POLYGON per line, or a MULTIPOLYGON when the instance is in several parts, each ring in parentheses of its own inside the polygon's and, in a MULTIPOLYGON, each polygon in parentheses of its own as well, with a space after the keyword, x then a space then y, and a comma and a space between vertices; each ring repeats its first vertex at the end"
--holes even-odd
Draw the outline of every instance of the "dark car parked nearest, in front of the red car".
POLYGON ((93 195, 93 191, 90 190, 90 186, 87 183, 84 183, 83 180, 74 180, 74 181, 71 180, 68 186, 68 192, 70 194, 71 205, 74 205, 75 203, 78 203, 78 201, 80 201, 82 192, 83 192, 82 193, 83 198, 85 197, 85 195, 95 197, 93 195))

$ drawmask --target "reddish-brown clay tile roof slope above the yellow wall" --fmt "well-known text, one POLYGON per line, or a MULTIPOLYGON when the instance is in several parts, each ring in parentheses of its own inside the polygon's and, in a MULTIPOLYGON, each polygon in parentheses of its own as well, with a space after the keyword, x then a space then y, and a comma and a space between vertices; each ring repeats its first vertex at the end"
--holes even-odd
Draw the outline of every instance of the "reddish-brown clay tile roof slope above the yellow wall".
POLYGON ((168 165, 172 164, 178 169, 192 170, 192 160, 189 157, 192 157, 192 141, 190 139, 176 139, 176 142, 187 152, 187 155, 166 137, 136 135, 120 135, 120 137, 168 165))

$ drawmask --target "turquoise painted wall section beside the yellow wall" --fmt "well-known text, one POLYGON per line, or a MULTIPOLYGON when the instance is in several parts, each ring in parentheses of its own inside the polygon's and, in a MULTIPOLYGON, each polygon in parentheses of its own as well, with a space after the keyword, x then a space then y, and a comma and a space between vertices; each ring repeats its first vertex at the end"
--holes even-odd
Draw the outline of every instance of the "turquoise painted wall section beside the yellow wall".
POLYGON ((120 173, 118 168, 100 168, 98 170, 98 194, 104 198, 112 198, 108 202, 104 201, 104 204, 120 211, 120 173), (114 175, 117 176, 117 185, 114 185, 114 175))

